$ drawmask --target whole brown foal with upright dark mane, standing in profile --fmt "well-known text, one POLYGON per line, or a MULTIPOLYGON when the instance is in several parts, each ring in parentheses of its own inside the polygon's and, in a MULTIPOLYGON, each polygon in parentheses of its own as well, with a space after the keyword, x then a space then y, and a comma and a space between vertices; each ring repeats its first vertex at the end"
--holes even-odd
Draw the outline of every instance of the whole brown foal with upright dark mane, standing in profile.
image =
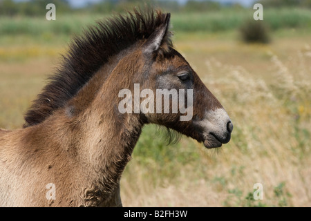
POLYGON ((122 206, 120 178, 144 124, 171 128, 207 148, 229 142, 232 123, 223 106, 171 46, 169 14, 158 12, 155 18, 153 12, 135 12, 118 22, 111 22, 121 27, 112 37, 122 36, 128 24, 129 31, 141 32, 141 39, 123 33, 133 42, 107 50, 109 57, 88 61, 88 68, 84 62, 97 56, 96 46, 90 47, 100 39, 100 30, 91 31, 88 42, 76 39, 64 70, 32 105, 24 128, 0 130, 0 206, 122 206), (78 70, 87 77, 77 75, 78 70), (68 80, 69 75, 77 76, 68 80), (133 91, 135 83, 153 91, 194 90, 194 119, 182 122, 181 113, 120 113, 118 93, 133 91))

